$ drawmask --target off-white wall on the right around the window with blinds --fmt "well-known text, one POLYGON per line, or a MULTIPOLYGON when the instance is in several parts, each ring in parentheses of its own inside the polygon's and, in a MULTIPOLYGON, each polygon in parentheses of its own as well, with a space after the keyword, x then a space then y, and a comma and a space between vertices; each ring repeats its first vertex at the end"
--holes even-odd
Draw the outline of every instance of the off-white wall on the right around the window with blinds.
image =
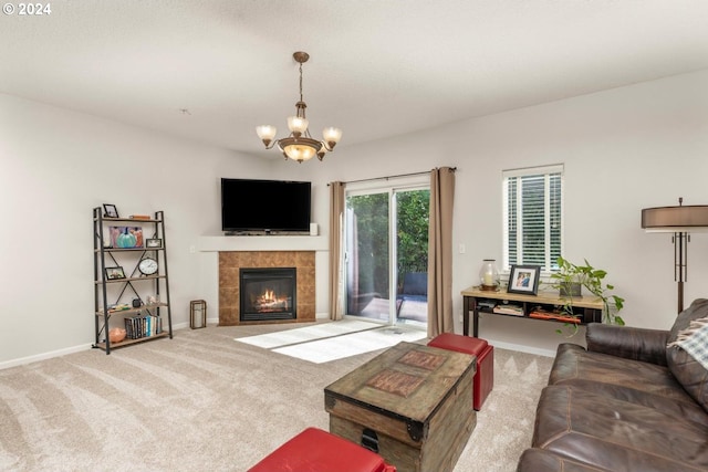
MULTIPOLYGON (((457 166, 455 321, 485 258, 502 260, 501 171, 565 165, 565 256, 607 270, 628 325, 668 328, 677 290, 669 234, 641 229, 647 207, 708 204, 708 71, 470 119, 332 155, 331 179, 457 166), (336 156, 336 160, 334 159, 336 156), (352 165, 355 162, 355 165, 352 165), (382 164, 383 162, 383 164, 382 164)), ((520 86, 523 86, 520 83, 520 86)), ((686 306, 708 297, 708 233, 689 244, 686 306)), ((552 353, 555 324, 486 317, 480 336, 552 353)), ((574 340, 582 342, 581 336, 574 340)))

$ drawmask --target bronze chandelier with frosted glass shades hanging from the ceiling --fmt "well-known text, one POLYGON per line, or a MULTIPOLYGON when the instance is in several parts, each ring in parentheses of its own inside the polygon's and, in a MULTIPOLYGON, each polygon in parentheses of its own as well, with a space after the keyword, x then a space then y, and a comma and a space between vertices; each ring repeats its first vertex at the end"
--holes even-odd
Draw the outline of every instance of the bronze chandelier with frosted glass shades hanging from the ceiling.
POLYGON ((278 149, 283 153, 287 159, 296 160, 302 162, 310 160, 314 156, 322 160, 325 153, 332 151, 334 146, 342 138, 342 130, 340 128, 327 127, 324 128, 322 135, 324 140, 317 140, 310 136, 308 130, 308 118, 305 118, 305 108, 308 105, 302 99, 302 64, 308 62, 310 54, 306 52, 293 53, 293 59, 300 64, 300 101, 295 103, 295 116, 288 117, 288 128, 290 128, 290 135, 282 139, 274 139, 278 128, 271 125, 261 125, 256 127, 258 137, 261 138, 266 145, 266 149, 272 149, 278 145, 278 149))

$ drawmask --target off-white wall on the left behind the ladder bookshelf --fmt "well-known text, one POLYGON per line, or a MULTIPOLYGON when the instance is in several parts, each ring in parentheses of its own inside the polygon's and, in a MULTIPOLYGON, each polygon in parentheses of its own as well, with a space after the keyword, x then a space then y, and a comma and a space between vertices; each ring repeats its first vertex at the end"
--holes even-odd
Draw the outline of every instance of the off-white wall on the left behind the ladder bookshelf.
POLYGON ((270 165, 0 95, 0 367, 93 342, 92 208, 102 203, 121 216, 165 211, 173 321, 188 323, 205 284, 189 248, 220 229, 219 178, 270 165))

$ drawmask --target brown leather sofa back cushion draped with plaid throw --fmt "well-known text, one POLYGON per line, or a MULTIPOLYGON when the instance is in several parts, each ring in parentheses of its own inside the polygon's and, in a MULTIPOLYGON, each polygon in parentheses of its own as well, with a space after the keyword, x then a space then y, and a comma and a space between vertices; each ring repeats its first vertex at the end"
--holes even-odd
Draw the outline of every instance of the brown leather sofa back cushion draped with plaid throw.
POLYGON ((695 354, 681 347, 681 342, 700 333, 697 326, 701 318, 708 319, 708 300, 706 298, 694 301, 676 318, 668 335, 666 363, 678 382, 708 411, 708 369, 694 357, 695 354))

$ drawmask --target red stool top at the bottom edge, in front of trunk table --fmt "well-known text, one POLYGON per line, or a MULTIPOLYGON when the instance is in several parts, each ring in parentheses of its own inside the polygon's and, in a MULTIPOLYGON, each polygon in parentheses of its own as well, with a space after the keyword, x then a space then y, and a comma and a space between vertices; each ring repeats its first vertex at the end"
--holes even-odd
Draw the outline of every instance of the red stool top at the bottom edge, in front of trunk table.
POLYGON ((248 472, 396 472, 381 455, 317 428, 308 428, 248 472))

